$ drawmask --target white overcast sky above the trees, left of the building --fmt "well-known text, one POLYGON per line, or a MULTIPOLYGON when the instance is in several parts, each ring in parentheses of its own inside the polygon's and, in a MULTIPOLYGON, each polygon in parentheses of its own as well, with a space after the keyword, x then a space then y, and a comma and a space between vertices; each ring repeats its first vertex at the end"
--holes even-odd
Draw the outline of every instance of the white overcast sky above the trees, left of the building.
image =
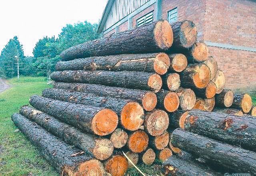
POLYGON ((100 20, 107 0, 1 0, 0 51, 18 36, 24 55, 33 56, 36 42, 58 36, 66 24, 100 20))

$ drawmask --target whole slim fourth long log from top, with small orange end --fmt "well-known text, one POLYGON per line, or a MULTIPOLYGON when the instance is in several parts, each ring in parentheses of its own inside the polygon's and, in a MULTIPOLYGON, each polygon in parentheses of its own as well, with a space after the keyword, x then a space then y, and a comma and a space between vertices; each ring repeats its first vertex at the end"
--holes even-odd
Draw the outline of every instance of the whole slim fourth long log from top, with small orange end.
POLYGON ((134 100, 140 103, 146 111, 151 111, 156 107, 157 98, 154 92, 137 89, 127 89, 119 87, 102 86, 97 84, 64 83, 54 82, 55 88, 71 89, 77 92, 84 92, 98 96, 122 98, 134 100))

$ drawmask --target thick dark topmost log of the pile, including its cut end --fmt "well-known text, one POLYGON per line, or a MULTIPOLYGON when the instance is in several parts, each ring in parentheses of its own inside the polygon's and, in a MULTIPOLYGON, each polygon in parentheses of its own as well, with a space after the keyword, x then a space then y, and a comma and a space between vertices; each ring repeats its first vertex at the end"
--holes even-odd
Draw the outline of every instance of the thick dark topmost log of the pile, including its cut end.
POLYGON ((167 50, 172 46, 173 32, 166 20, 139 28, 88 41, 64 50, 62 60, 128 53, 147 53, 167 50))

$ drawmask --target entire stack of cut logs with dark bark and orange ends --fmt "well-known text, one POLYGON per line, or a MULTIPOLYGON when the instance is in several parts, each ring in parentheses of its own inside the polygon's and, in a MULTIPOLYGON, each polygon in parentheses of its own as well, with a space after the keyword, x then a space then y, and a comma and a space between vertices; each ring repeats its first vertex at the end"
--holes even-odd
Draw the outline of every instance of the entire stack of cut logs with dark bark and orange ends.
POLYGON ((196 39, 193 22, 160 20, 68 48, 12 120, 60 175, 155 160, 164 175, 256 174, 256 107, 196 39))

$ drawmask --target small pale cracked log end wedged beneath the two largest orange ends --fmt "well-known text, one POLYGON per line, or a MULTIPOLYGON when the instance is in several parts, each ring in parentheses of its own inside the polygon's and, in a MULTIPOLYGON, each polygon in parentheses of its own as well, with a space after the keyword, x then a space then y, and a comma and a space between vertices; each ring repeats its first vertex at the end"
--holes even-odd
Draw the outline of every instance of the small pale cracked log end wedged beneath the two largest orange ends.
POLYGON ((127 143, 128 134, 121 128, 116 128, 110 135, 110 140, 112 141, 114 148, 122 148, 127 143))

